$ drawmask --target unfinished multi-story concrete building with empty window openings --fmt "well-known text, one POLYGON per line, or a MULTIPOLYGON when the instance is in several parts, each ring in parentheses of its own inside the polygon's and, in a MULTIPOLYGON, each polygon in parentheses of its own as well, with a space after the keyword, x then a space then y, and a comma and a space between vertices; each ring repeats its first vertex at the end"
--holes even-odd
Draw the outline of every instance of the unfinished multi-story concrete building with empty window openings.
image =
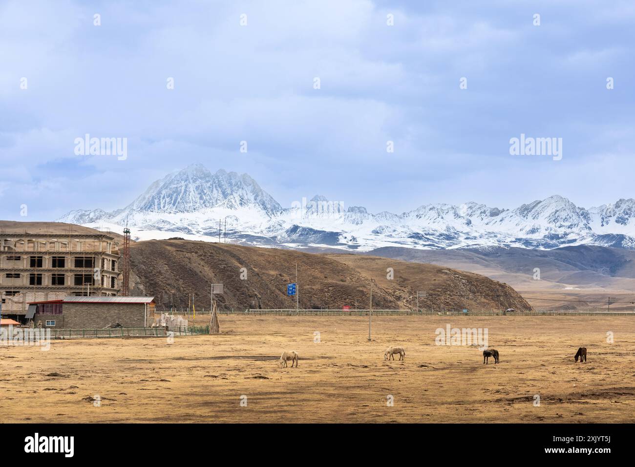
POLYGON ((119 294, 119 249, 107 234, 0 234, 3 317, 24 321, 29 302, 119 294))

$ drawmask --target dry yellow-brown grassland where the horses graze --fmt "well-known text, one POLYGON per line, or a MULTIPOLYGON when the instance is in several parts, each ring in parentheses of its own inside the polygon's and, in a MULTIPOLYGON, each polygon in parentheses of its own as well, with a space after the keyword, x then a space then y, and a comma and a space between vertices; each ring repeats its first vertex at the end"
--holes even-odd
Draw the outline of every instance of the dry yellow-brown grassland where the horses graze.
POLYGON ((173 344, 113 338, 55 341, 49 351, 0 346, 2 421, 635 419, 630 316, 374 317, 372 342, 364 317, 221 316, 220 324, 222 335, 176 337, 173 344), (437 346, 435 330, 447 324, 488 328, 500 364, 483 365, 481 351, 471 346, 437 346), (383 361, 393 343, 406 349, 404 362, 383 361), (573 362, 579 346, 588 349, 587 363, 573 362), (278 367, 283 349, 300 353, 297 369, 278 367))

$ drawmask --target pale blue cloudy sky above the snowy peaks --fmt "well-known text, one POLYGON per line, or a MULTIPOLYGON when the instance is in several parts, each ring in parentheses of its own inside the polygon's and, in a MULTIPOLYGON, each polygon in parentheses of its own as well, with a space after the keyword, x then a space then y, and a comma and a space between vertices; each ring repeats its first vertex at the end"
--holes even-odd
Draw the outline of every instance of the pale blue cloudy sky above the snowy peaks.
POLYGON ((614 203, 634 36, 632 1, 0 0, 0 219, 122 208, 193 163, 283 207, 614 203), (76 154, 86 134, 126 157, 76 154), (521 134, 561 159, 511 154, 521 134))

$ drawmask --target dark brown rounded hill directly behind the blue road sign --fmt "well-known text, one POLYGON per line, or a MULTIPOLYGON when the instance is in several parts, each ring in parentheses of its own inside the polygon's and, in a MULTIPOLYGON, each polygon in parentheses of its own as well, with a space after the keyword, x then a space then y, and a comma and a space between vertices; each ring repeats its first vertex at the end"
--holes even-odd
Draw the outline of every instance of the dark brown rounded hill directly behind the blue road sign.
POLYGON ((222 309, 295 308, 286 285, 295 282, 297 262, 300 308, 367 309, 374 278, 373 308, 414 308, 422 290, 427 297, 419 303, 425 309, 531 309, 513 288, 485 276, 384 257, 188 240, 139 241, 130 255, 131 294, 154 295, 159 307, 187 306, 188 294, 194 293, 197 306, 208 308, 210 284, 222 283, 222 309), (388 267, 394 280, 386 278, 388 267))

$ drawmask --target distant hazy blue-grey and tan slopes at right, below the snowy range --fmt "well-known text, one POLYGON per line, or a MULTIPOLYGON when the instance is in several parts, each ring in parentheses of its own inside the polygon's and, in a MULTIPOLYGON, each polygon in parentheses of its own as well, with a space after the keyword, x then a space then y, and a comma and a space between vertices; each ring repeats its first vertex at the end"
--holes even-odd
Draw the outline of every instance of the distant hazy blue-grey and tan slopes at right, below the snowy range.
POLYGON ((554 250, 463 248, 415 250, 378 248, 369 253, 483 274, 511 285, 535 309, 632 311, 635 303, 635 251, 576 245, 554 250), (535 280, 535 268, 540 280, 535 280))

